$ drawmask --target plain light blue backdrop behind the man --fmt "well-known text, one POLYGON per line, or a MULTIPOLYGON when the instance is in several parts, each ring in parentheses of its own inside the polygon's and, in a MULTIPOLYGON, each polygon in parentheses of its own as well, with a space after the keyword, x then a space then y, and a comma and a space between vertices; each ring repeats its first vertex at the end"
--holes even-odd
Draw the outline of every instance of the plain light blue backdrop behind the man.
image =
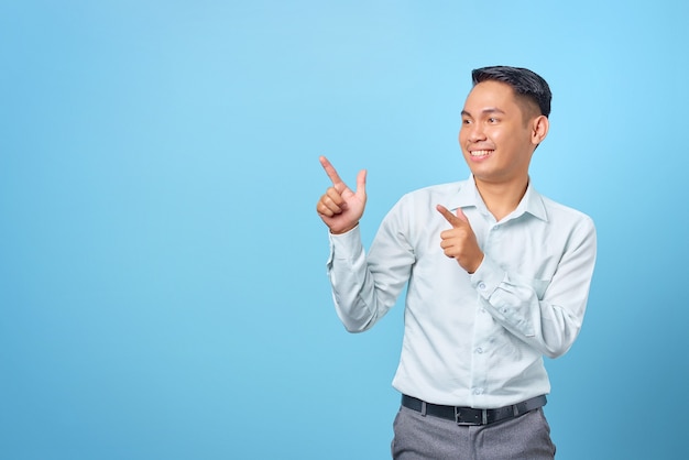
POLYGON ((0 458, 383 459, 402 308, 333 311, 326 154, 396 199, 463 179, 470 70, 554 91, 532 177, 591 215, 548 361, 558 459, 686 451, 682 1, 0 2, 0 458))

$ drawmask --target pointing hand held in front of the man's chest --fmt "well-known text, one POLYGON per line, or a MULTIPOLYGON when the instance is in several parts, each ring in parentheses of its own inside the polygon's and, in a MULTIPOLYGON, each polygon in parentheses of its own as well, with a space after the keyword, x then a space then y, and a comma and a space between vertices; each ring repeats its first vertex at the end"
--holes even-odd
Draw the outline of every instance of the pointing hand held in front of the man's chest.
POLYGON ((471 229, 467 216, 461 208, 457 208, 457 216, 442 205, 436 206, 436 209, 452 226, 451 229, 440 232, 440 248, 445 251, 445 255, 457 260, 457 263, 467 273, 479 270, 481 262, 483 262, 483 252, 479 248, 477 236, 471 229))

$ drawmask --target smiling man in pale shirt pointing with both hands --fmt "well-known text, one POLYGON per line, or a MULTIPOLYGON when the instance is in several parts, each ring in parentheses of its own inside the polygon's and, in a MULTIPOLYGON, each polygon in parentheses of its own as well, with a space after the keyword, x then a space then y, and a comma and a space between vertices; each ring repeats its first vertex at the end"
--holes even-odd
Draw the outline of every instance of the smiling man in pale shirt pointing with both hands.
POLYGON ((337 313, 371 328, 406 283, 393 386, 396 459, 553 459, 543 355, 572 346, 595 261, 592 220, 539 195, 528 167, 548 133, 550 89, 515 67, 472 72, 459 143, 471 176, 405 195, 364 254, 365 171, 317 204, 330 230, 337 313))

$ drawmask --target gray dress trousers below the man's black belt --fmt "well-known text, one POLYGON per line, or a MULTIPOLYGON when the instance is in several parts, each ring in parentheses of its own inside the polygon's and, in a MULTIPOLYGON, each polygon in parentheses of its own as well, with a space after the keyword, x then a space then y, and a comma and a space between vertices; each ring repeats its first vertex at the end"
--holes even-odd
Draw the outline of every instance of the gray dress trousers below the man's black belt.
POLYGON ((543 408, 481 426, 423 416, 400 407, 393 425, 396 460, 553 460, 555 445, 543 408))

